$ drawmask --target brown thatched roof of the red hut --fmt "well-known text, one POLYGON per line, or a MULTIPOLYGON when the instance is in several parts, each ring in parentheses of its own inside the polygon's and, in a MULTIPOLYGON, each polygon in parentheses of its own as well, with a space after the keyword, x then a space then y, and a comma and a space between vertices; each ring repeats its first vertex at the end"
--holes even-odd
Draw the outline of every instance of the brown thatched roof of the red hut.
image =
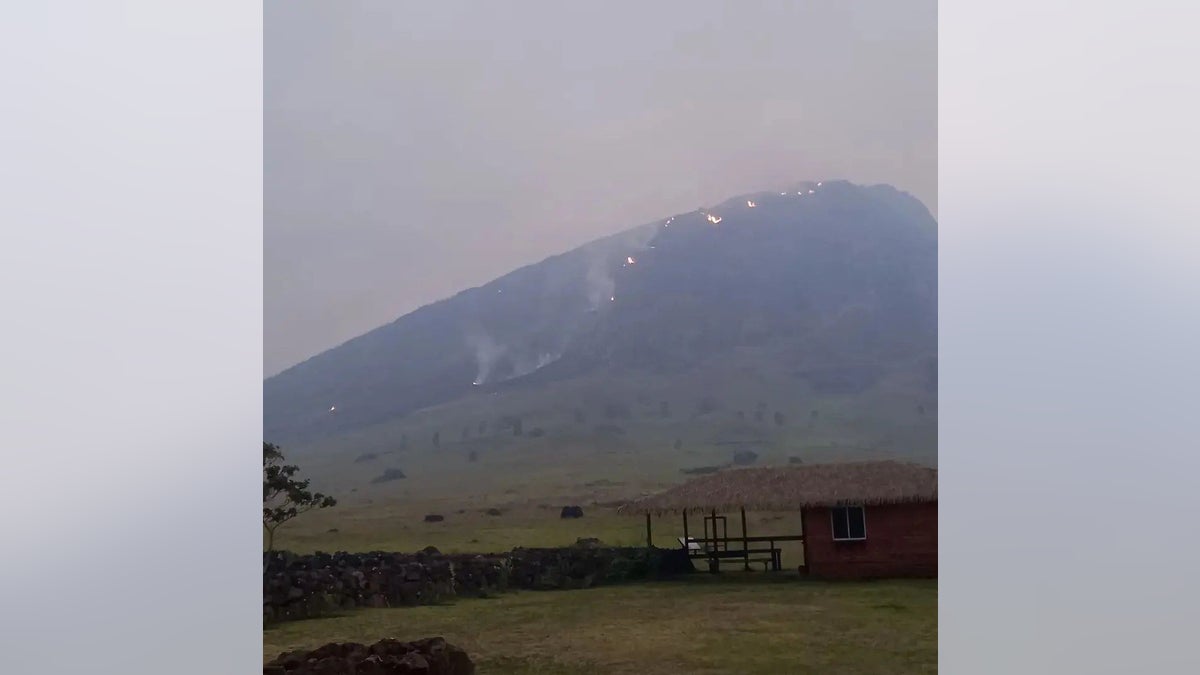
POLYGON ((936 502, 937 470, 899 461, 731 468, 620 507, 625 514, 936 502))

